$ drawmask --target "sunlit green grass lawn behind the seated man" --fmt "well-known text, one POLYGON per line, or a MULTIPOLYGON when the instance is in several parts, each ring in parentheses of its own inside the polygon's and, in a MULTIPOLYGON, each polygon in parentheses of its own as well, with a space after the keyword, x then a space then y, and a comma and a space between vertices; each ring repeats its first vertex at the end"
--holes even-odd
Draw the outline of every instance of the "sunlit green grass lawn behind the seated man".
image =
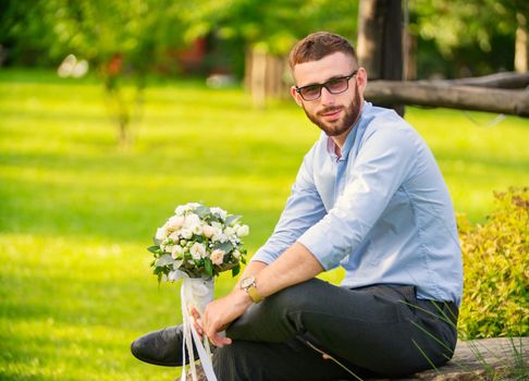
MULTIPOLYGON (((271 233, 319 132, 293 102, 251 108, 238 88, 160 82, 134 144, 116 146, 93 79, 0 70, 0 379, 172 380, 130 342, 180 321, 179 286, 157 284, 146 247, 187 201, 243 214, 250 254, 271 233)), ((471 221, 492 190, 529 185, 529 120, 408 108, 471 221)), ((337 281, 339 272, 325 275, 337 281)), ((229 275, 217 294, 233 285, 229 275)))

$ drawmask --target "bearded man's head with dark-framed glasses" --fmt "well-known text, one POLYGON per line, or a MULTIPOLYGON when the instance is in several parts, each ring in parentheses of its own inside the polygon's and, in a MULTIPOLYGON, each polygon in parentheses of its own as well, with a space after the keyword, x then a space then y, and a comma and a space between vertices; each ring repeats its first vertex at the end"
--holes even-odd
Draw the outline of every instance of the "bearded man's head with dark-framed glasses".
POLYGON ((313 33, 294 46, 291 94, 328 136, 345 136, 358 120, 367 84, 356 53, 342 36, 313 33))

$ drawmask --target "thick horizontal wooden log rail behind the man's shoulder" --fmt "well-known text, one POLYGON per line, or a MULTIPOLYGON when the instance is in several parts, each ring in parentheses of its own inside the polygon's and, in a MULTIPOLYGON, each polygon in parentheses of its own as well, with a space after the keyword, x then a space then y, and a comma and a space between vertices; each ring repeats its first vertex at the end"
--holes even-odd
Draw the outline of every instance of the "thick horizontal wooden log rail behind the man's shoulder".
POLYGON ((365 98, 373 103, 402 103, 476 110, 529 118, 529 90, 471 86, 439 86, 426 83, 372 81, 365 98))

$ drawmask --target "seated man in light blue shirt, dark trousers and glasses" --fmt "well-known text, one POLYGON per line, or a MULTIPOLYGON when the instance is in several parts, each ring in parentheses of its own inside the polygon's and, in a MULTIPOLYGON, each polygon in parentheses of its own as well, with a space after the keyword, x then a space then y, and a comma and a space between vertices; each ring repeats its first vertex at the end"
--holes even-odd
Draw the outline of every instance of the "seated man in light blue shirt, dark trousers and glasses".
MULTIPOLYGON (((463 270, 432 153, 394 111, 364 100, 367 74, 343 37, 307 36, 290 64, 291 94, 322 134, 239 284, 194 312, 217 346, 218 378, 343 380, 443 365, 456 344, 463 270), (315 279, 337 266, 341 286, 315 279)), ((169 328, 132 351, 181 365, 179 343, 181 328, 169 328)))

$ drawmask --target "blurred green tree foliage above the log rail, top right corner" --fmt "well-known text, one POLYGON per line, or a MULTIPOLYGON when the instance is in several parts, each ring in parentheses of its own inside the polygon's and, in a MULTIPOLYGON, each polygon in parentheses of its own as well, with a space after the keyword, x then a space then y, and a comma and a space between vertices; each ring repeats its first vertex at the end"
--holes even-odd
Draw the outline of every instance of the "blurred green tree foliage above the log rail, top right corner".
MULTIPOLYGON (((468 76, 490 74, 499 69, 513 70, 515 56, 517 61, 526 62, 527 66, 526 23, 529 2, 410 0, 408 4, 409 29, 426 42, 419 51, 428 48, 429 41, 433 41, 441 58, 453 61, 455 71, 445 74, 468 76), (524 38, 526 40, 521 41, 524 38)), ((428 65, 430 63, 435 64, 429 61, 428 65)))

